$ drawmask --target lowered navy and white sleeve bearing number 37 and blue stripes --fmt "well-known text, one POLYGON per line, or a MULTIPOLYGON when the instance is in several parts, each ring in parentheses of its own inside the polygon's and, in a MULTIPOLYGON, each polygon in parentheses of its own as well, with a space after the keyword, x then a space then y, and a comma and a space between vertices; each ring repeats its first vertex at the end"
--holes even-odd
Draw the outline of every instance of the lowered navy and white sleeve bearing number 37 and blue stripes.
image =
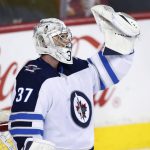
POLYGON ((35 76, 20 75, 16 80, 13 104, 9 118, 9 131, 20 150, 26 138, 41 138, 44 120, 49 109, 50 97, 45 83, 35 76))

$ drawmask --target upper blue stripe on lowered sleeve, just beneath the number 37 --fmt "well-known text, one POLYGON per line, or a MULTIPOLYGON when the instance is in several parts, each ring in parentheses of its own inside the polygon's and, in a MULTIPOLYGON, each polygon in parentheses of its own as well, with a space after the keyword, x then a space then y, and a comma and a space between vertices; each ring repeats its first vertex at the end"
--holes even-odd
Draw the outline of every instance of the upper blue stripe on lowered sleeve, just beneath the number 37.
POLYGON ((9 118, 9 120, 17 120, 17 119, 43 120, 44 121, 43 116, 40 114, 18 113, 18 114, 12 114, 9 118))

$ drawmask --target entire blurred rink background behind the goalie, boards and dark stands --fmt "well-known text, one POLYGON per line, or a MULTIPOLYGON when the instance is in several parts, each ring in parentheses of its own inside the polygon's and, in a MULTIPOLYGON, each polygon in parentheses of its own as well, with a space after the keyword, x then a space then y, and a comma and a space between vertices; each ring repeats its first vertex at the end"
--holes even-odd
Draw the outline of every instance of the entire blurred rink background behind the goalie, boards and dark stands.
MULTIPOLYGON (((95 150, 150 150, 150 0, 0 0, 0 120, 9 115, 17 73, 38 57, 34 25, 43 18, 62 19, 73 33, 73 55, 86 59, 104 42, 90 11, 97 4, 132 15, 141 36, 127 76, 94 97, 95 150)), ((1 122, 2 130, 7 122, 1 122)))

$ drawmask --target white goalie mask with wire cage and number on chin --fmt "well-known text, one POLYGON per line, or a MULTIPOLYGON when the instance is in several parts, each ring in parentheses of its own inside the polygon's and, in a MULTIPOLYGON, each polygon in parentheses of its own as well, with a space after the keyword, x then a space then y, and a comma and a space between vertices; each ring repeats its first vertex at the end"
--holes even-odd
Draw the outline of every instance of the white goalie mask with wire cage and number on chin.
POLYGON ((38 54, 49 54, 62 63, 72 64, 72 34, 64 22, 56 18, 40 20, 33 38, 38 54))

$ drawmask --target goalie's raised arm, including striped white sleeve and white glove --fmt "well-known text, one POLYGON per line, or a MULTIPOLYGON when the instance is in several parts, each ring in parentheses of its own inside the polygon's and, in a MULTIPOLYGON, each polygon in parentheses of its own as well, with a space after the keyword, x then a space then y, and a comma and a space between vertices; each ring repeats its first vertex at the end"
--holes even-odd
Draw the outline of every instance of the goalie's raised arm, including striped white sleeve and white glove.
POLYGON ((131 16, 115 12, 110 6, 97 5, 91 11, 105 39, 103 49, 88 59, 99 78, 98 91, 118 83, 128 72, 140 29, 131 16))

